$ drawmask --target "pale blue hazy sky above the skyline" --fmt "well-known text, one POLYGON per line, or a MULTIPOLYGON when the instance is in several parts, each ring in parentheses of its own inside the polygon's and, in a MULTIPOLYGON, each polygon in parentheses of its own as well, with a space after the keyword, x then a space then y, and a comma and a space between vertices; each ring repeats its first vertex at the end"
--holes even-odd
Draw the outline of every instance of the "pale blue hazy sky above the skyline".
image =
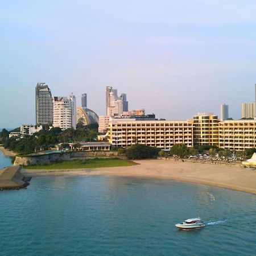
POLYGON ((0 127, 35 123, 35 86, 105 114, 105 89, 168 120, 255 101, 256 2, 1 1, 0 127))

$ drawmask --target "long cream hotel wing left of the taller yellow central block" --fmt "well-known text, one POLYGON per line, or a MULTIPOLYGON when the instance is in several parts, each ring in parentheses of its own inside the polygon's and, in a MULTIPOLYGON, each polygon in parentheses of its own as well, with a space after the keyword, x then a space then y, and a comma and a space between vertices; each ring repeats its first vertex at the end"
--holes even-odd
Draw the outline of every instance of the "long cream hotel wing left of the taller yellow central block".
POLYGON ((176 143, 193 147, 193 123, 189 121, 135 121, 109 123, 109 142, 117 147, 140 143, 170 150, 176 143))

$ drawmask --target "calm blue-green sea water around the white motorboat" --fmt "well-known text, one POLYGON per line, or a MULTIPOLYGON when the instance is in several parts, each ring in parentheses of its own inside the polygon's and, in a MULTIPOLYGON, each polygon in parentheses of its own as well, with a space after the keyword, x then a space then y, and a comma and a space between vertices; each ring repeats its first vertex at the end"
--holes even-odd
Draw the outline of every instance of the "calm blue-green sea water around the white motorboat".
POLYGON ((0 255, 255 255, 255 209, 253 194, 174 180, 33 177, 0 191, 0 255))

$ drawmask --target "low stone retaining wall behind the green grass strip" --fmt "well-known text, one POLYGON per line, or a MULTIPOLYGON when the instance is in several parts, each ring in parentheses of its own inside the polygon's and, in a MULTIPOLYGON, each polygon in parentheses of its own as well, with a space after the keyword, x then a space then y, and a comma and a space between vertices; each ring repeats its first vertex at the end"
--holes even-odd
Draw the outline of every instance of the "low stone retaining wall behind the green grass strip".
POLYGON ((113 158, 117 157, 117 151, 88 151, 88 152, 67 152, 53 153, 46 155, 16 156, 14 166, 35 166, 37 164, 49 164, 61 160, 74 160, 81 158, 113 158))

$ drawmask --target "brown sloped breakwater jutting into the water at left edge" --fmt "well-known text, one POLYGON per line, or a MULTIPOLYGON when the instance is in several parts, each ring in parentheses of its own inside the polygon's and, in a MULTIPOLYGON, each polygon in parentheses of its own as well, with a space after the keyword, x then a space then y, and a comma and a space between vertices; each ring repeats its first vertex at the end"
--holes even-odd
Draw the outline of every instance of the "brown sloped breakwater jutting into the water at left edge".
POLYGON ((29 183, 20 173, 21 167, 10 166, 0 170, 0 189, 26 188, 29 183))

